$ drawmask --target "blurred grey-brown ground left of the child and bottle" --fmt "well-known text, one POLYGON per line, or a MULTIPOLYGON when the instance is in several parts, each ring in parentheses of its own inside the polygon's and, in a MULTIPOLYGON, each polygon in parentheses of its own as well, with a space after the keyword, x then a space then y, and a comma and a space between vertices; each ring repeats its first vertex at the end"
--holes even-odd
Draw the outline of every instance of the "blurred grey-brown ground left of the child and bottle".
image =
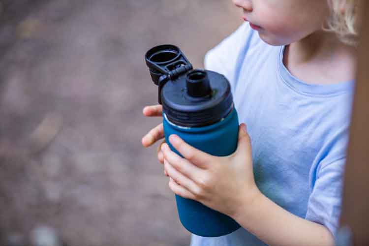
POLYGON ((0 0, 0 245, 188 246, 158 144, 141 145, 161 122, 142 114, 144 54, 175 44, 203 68, 240 16, 231 0, 0 0))

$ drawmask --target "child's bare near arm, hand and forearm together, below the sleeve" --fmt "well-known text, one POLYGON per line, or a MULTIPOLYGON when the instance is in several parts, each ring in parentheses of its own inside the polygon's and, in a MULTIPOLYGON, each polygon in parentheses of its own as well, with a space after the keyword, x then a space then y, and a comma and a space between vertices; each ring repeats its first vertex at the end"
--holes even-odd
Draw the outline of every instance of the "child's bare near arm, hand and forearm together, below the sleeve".
POLYGON ((201 152, 174 134, 169 141, 184 156, 162 145, 164 168, 171 177, 169 186, 176 194, 233 217, 272 246, 334 245, 325 226, 291 214, 260 192, 252 173, 250 139, 243 127, 237 150, 229 156, 201 152))

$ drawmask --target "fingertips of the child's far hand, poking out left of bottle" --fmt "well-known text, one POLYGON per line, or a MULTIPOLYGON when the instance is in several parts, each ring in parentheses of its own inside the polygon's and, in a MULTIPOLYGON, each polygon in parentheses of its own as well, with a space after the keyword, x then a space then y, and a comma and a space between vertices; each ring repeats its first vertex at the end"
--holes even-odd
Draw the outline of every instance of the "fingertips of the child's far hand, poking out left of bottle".
MULTIPOLYGON (((162 117, 163 107, 160 104, 147 106, 143 109, 142 113, 147 117, 162 117)), ((158 124, 153 129, 151 129, 141 140, 141 143, 144 147, 149 147, 153 145, 156 141, 164 138, 164 128, 163 123, 158 124)), ((157 147, 157 159, 161 164, 163 164, 164 156, 160 150, 161 145, 165 143, 165 139, 160 143, 157 147)), ((166 176, 167 173, 164 170, 164 174, 166 176)))

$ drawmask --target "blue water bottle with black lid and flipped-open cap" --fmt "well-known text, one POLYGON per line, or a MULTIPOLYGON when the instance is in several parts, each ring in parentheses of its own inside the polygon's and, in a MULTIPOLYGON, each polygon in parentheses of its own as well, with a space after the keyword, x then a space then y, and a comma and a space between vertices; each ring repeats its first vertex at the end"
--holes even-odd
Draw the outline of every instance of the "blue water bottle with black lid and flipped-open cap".
MULTIPOLYGON (((177 134, 208 154, 234 153, 239 122, 228 80, 214 71, 193 69, 181 50, 170 44, 150 49, 145 61, 158 86, 165 140, 171 150, 182 156, 168 140, 177 134)), ((181 223, 193 234, 220 237, 240 228, 228 215, 200 202, 177 194, 175 199, 181 223)))

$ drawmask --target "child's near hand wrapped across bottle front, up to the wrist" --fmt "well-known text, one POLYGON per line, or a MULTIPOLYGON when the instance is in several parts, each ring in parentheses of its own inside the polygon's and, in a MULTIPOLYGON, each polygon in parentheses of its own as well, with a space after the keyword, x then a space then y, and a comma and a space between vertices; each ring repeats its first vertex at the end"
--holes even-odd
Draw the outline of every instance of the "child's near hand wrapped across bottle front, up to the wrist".
POLYGON ((169 141, 184 156, 171 151, 167 144, 161 147, 164 169, 171 177, 169 186, 177 195, 233 217, 240 208, 245 213, 245 206, 261 194, 254 181, 251 143, 245 124, 239 127, 236 152, 228 156, 197 150, 174 134, 169 141))

